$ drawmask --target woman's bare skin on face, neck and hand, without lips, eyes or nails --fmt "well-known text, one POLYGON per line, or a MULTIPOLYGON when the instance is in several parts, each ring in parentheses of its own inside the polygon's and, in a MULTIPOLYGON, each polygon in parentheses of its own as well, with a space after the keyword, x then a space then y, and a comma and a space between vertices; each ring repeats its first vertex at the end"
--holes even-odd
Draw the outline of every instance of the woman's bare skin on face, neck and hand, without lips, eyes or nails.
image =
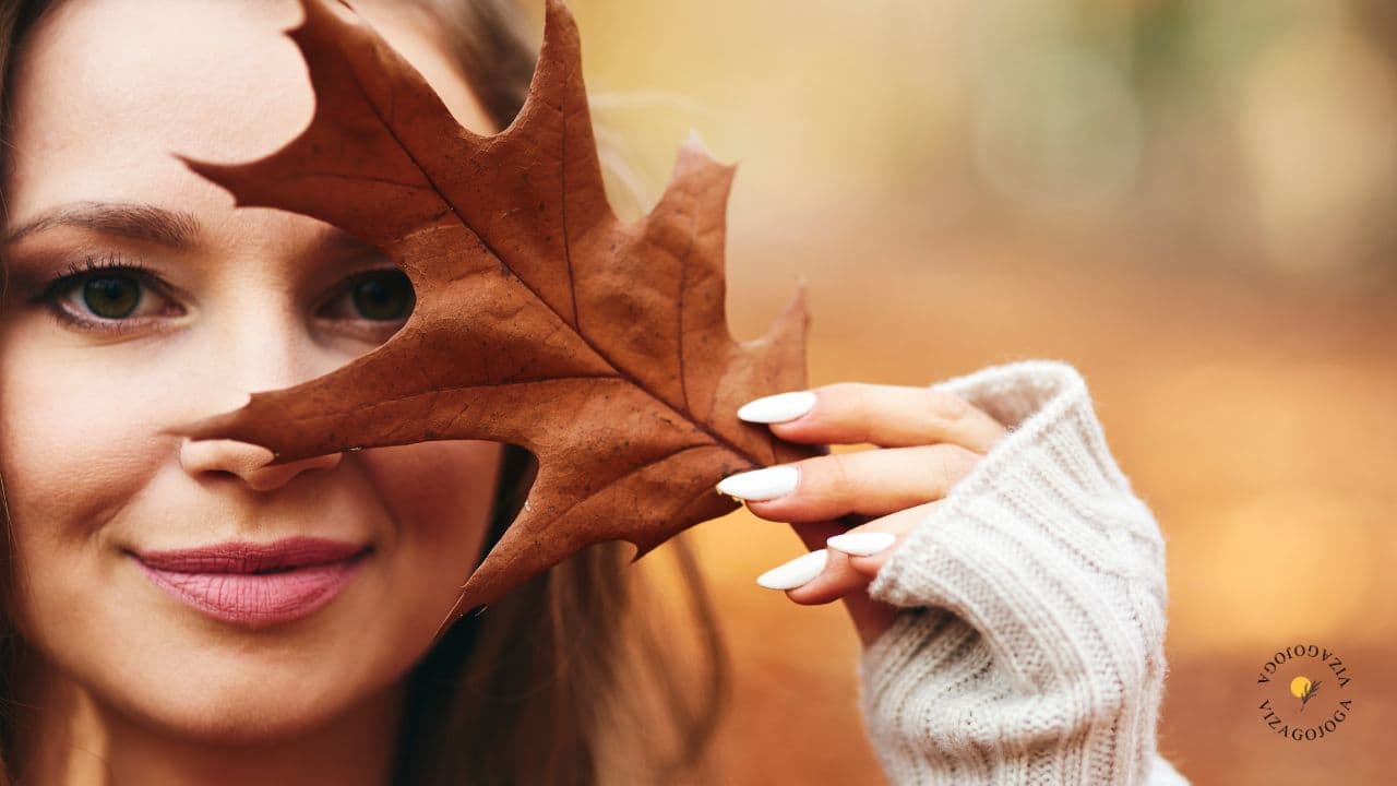
MULTIPOLYGON (((496 130, 430 25, 402 6, 356 7, 464 126, 496 130)), ((7 241, 0 477, 17 622, 39 656, 20 680, 29 730, 7 754, 27 782, 386 783, 402 677, 479 559, 499 445, 427 442, 264 469, 261 448, 159 435, 326 373, 401 326, 355 313, 342 294, 348 276, 391 262, 303 215, 235 210, 170 155, 246 161, 306 124, 310 87, 281 35, 299 15, 289 0, 70 3, 18 63, 10 231, 84 200, 180 210, 200 227, 184 249, 74 225, 7 241), (105 320, 120 330, 56 319, 103 322, 81 287, 31 302, 67 264, 113 253, 154 276, 134 316, 105 320), (261 629, 170 599, 127 554, 292 534, 374 551, 331 604, 261 629)), ((851 512, 877 516, 863 530, 904 536, 1004 435, 926 389, 838 383, 816 394, 809 414, 770 428, 879 449, 799 462, 795 492, 749 502, 812 548, 851 512)), ((833 554, 787 593, 842 599, 872 642, 893 610, 863 589, 897 545, 833 554)))

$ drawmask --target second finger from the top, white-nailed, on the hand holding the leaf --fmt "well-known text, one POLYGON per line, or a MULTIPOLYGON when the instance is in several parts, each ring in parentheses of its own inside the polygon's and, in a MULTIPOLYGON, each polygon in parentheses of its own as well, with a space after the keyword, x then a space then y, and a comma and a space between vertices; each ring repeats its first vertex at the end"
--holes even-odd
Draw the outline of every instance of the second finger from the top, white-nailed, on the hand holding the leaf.
POLYGON ((763 519, 793 524, 847 513, 884 516, 946 496, 979 457, 958 445, 831 453, 735 474, 718 491, 763 519))

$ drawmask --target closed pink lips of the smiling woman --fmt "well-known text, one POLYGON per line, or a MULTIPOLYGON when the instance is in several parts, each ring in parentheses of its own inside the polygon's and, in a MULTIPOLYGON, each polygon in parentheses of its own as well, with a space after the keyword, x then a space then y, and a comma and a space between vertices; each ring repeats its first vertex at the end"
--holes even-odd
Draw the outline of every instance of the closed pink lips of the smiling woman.
POLYGON ((134 554, 156 586, 200 611, 249 628, 313 614, 349 585, 369 547, 314 537, 221 543, 134 554))

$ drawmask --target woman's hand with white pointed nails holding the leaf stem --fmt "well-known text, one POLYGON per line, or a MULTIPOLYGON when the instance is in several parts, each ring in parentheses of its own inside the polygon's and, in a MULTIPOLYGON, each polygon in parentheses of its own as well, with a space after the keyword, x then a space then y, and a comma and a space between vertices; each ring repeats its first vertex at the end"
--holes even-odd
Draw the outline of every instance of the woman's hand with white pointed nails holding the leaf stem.
POLYGON ((738 417, 770 424, 791 442, 880 448, 740 473, 718 484, 757 516, 789 522, 814 550, 757 582, 800 604, 844 599, 865 646, 897 614, 868 596, 869 582, 907 533, 1009 434, 953 393, 862 382, 767 396, 745 404, 738 417), (847 529, 842 516, 873 520, 847 529))

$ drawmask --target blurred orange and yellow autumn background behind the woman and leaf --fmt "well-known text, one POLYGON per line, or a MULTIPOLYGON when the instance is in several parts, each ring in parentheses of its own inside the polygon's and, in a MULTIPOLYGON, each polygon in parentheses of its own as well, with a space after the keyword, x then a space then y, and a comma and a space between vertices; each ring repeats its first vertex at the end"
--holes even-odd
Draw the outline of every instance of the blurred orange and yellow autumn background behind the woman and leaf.
MULTIPOLYGON (((1084 373, 1168 538, 1160 750, 1180 772, 1390 782, 1397 4, 570 6, 622 213, 658 197, 690 129, 738 162, 739 338, 803 276, 812 386, 1038 357, 1084 373), (1292 643, 1354 680, 1323 741, 1256 709, 1292 643)), ((753 580, 793 531, 738 512, 690 534, 736 667, 715 780, 882 783, 842 606, 753 580)))

